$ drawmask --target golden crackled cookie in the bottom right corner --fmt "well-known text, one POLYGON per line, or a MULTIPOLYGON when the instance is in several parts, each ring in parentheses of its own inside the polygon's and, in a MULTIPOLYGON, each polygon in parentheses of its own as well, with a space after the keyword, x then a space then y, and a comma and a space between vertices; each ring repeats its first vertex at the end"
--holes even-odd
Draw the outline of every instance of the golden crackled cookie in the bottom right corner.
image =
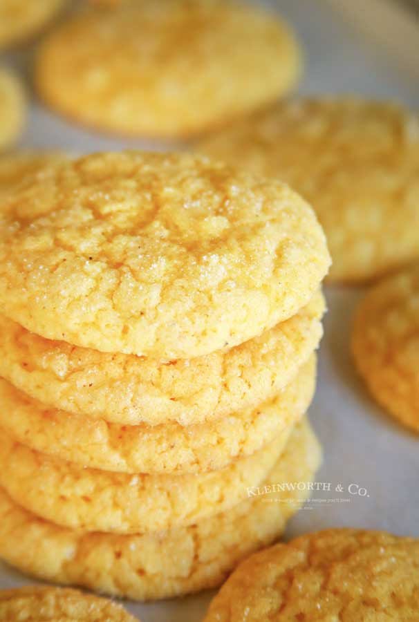
POLYGON ((205 622, 416 620, 419 540, 328 529, 245 560, 205 622))

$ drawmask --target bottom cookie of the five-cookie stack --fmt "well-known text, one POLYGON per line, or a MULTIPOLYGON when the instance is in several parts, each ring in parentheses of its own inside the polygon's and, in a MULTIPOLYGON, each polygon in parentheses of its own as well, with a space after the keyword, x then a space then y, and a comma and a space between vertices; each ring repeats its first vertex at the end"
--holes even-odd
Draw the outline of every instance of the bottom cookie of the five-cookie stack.
MULTIPOLYGON (((310 481, 319 462, 310 426, 299 424, 266 485, 310 481)), ((245 556, 272 543, 307 494, 296 489, 261 494, 191 527, 118 536, 57 527, 1 491, 0 557, 44 580, 132 599, 196 592, 218 585, 245 556)))

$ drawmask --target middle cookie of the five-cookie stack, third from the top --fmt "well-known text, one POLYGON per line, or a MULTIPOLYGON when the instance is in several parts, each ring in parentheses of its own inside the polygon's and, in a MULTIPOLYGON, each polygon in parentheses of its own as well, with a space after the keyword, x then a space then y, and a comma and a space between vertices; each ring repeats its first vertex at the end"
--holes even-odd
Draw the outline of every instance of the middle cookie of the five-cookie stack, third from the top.
POLYGON ((32 449, 95 469, 203 473, 261 450, 295 424, 313 397, 315 372, 311 357, 269 402, 192 426, 120 426, 70 415, 45 408, 0 379, 0 427, 32 449))

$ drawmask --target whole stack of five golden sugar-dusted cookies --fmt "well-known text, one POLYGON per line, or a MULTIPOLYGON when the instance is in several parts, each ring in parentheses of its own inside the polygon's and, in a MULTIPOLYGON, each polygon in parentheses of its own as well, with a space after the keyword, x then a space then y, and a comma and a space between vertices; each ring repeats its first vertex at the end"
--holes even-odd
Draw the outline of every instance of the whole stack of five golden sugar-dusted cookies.
MULTIPOLYGON (((51 156, 2 198, 0 556, 134 599, 275 540, 330 259, 286 185, 204 157, 51 156)), ((287 491, 288 488, 288 491, 287 491)))

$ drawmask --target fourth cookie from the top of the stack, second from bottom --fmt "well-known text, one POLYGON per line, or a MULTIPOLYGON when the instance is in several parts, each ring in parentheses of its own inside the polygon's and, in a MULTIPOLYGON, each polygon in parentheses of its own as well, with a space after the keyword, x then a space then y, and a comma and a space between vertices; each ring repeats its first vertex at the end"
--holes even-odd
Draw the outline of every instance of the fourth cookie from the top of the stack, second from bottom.
POLYGON ((186 475, 87 469, 28 449, 0 431, 0 484, 21 507, 70 529, 137 534, 186 527, 243 501, 272 470, 292 426, 224 469, 186 475))

